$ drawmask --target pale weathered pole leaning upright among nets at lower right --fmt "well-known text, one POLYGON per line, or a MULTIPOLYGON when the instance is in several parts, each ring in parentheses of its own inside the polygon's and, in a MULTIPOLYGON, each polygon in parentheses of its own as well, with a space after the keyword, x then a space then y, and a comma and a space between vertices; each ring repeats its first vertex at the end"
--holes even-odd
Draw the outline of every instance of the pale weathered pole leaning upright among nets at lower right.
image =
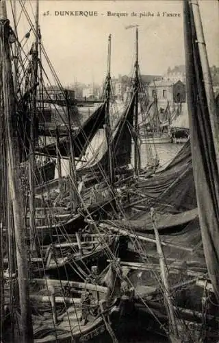
POLYGON ((151 208, 151 219, 153 220, 153 228, 154 228, 156 244, 157 244, 157 253, 159 255, 159 266, 160 266, 160 272, 161 272, 162 281, 164 285, 164 296, 166 298, 166 303, 168 306, 170 326, 171 326, 172 333, 174 334, 175 338, 178 338, 177 323, 175 320, 175 314, 174 314, 172 299, 170 295, 170 285, 166 277, 164 252, 162 250, 162 244, 159 238, 159 233, 158 233, 157 225, 156 225, 155 212, 153 208, 151 208))

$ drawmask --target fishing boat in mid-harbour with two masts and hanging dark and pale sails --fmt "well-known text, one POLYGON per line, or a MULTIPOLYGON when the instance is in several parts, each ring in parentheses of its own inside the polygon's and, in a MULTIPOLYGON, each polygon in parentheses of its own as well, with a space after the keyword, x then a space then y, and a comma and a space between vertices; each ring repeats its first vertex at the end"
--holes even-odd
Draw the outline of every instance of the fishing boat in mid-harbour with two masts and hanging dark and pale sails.
MULTIPOLYGON (((138 37, 137 37, 138 38, 138 37)), ((137 44, 137 43, 136 43, 137 44)), ((75 198, 77 198, 77 204, 74 205, 74 209, 79 210, 79 213, 74 211, 71 217, 68 217, 68 211, 66 211, 66 216, 63 216, 63 220, 59 223, 51 222, 50 226, 48 227, 49 230, 54 228, 57 230, 57 226, 67 229, 72 227, 73 225, 76 228, 76 223, 81 220, 80 227, 83 227, 83 217, 92 213, 92 215, 97 216, 107 216, 112 217, 115 215, 115 198, 117 196, 116 189, 118 187, 125 187, 126 182, 130 179, 134 174, 140 173, 140 153, 139 153, 139 145, 138 145, 138 137, 134 133, 135 130, 133 126, 138 127, 138 119, 135 119, 138 114, 138 103, 137 103, 137 95, 138 95, 138 59, 136 64, 136 81, 133 84, 133 89, 130 94, 129 101, 125 106, 123 114, 119 117, 114 115, 114 120, 110 119, 110 98, 111 98, 111 76, 110 76, 110 52, 111 52, 111 36, 109 37, 108 42, 108 67, 107 67, 107 78, 105 83, 105 97, 103 99, 103 105, 93 113, 93 116, 99 115, 98 126, 96 129, 93 130, 93 134, 90 134, 90 125, 93 122, 92 119, 96 122, 96 117, 90 117, 87 124, 83 126, 83 128, 87 128, 88 132, 81 132, 80 137, 86 139, 83 145, 83 149, 81 155, 77 154, 79 159, 75 159, 75 149, 77 147, 77 139, 79 139, 79 135, 74 140, 74 137, 69 136, 69 144, 66 158, 69 158, 70 154, 70 172, 71 175, 67 176, 66 178, 62 177, 62 173, 59 172, 59 178, 56 180, 52 180, 50 182, 41 185, 40 187, 36 188, 36 199, 39 202, 39 206, 45 206, 45 198, 47 197, 48 191, 53 192, 53 196, 49 196, 49 201, 51 202, 50 205, 55 206, 65 206, 66 209, 70 210, 70 204, 73 202, 72 193, 75 193, 75 198), (112 124, 110 123, 112 121, 112 124), (136 124, 137 123, 137 124, 136 124), (87 125, 87 126, 86 126, 87 125), (101 128, 102 127, 102 128, 101 128), (97 132, 95 133, 94 131, 97 132), (90 137, 90 138, 89 138, 90 137), (132 139, 134 137, 134 147, 135 147, 135 167, 134 171, 129 169, 129 165, 131 163, 131 144, 132 139), (98 146, 96 147, 97 141, 98 146), (70 151, 69 151, 70 149, 70 151), (68 155, 68 157, 67 157, 68 155), (81 158, 81 159, 80 159, 81 158), (73 163, 73 161, 75 161, 73 163), (137 166, 138 165, 138 166, 137 166), (80 191, 78 189, 78 179, 80 179, 81 183, 83 183, 83 187, 86 187, 86 191, 80 191), (105 180, 105 181, 104 181, 105 180), (60 186, 62 184, 62 186, 60 186), (72 185, 71 185, 72 184, 72 185), (95 184, 95 185, 94 185, 95 184), (94 185, 94 187, 90 187, 94 185), (92 195, 92 193, 94 193, 92 195), (41 202, 41 205, 40 205, 41 202), (79 206, 79 203, 81 204, 79 206), (82 217, 81 217, 82 215, 82 217)), ((138 117, 138 116, 137 116, 138 117)), ((82 139, 81 138, 81 139, 82 139)), ((66 141, 64 141, 66 144, 66 141)), ((61 147, 61 145, 59 145, 61 147)), ((66 145, 65 145, 66 147, 66 145)), ((82 147, 82 145, 81 145, 82 147)), ((51 154, 55 154, 57 152, 57 156, 59 159, 62 158, 62 154, 64 154, 64 150, 62 154, 60 154, 60 150, 55 150, 55 145, 47 145, 44 147, 44 152, 46 149, 50 149, 51 154)), ((153 152, 151 149, 151 159, 149 158, 148 168, 142 173, 145 175, 147 172, 155 170, 159 165, 158 158, 153 158, 153 152)), ((79 150, 78 150, 79 153, 79 150)), ((53 155, 54 156, 54 155, 53 155)), ((50 156, 51 157, 51 156, 50 156)), ((57 163, 60 165, 60 163, 57 163)), ((75 200, 74 200, 75 202, 75 200)), ((116 210, 117 211, 117 210, 116 210)), ((46 213, 46 211, 44 211, 46 213)), ((53 210, 52 210, 53 213, 53 210)), ((64 213, 63 213, 64 214, 64 213)), ((41 213, 43 216, 43 211, 41 213)), ((51 217, 48 216, 47 217, 51 217)), ((46 226, 48 225, 48 218, 44 218, 44 224, 38 226, 37 230, 44 230, 46 233, 48 230, 46 226)), ((60 215, 61 218, 61 215, 60 215)), ((57 219, 57 215, 56 215, 57 219)), ((43 218, 42 221, 43 222, 43 218)), ((62 230, 61 228, 61 230, 62 230)), ((68 231, 69 233, 69 231, 68 231)))

